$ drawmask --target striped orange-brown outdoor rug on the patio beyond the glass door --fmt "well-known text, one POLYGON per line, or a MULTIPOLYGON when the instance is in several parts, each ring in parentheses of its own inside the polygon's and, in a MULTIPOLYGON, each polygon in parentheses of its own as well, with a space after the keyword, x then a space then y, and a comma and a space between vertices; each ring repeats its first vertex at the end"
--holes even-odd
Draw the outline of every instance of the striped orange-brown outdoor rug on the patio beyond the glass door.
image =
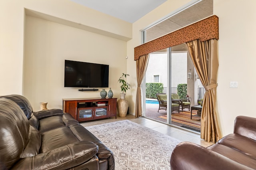
MULTIPOLYGON (((183 124, 190 127, 192 130, 200 132, 201 117, 197 116, 197 111, 192 111, 192 119, 190 119, 191 111, 184 111, 180 113, 172 113, 172 122, 183 124)), ((160 116, 159 118, 167 119, 167 115, 160 116)))

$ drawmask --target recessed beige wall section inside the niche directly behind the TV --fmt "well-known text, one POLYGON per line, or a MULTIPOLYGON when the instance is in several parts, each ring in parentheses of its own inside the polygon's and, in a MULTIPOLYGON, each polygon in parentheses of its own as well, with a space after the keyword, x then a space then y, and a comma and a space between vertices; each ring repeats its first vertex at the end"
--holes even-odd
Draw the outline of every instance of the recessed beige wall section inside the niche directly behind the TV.
MULTIPOLYGON (((100 97, 99 91, 64 87, 64 60, 109 65, 109 87, 119 97, 118 78, 126 72, 126 42, 78 28, 26 16, 23 94, 34 108, 48 102, 61 108, 64 98, 100 97)), ((92 89, 92 88, 91 88, 92 89)))

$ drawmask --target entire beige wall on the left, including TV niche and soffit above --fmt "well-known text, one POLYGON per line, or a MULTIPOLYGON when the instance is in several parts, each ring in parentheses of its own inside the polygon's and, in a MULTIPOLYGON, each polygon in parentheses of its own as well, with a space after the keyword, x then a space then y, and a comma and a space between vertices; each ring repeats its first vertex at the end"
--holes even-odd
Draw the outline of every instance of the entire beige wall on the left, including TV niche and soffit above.
POLYGON ((62 98, 99 97, 100 91, 64 88, 64 59, 73 59, 109 64, 109 87, 119 97, 131 23, 70 0, 0 1, 0 12, 0 95, 24 95, 34 110, 42 101, 62 108, 62 98))

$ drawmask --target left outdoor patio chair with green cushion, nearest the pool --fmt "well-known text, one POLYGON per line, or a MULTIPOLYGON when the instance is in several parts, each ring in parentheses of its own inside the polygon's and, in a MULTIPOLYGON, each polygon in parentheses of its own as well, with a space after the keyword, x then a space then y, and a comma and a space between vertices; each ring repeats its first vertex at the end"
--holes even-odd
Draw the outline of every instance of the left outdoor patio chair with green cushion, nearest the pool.
MULTIPOLYGON (((157 97, 157 100, 159 102, 159 108, 158 108, 157 112, 159 112, 159 110, 161 110, 161 109, 166 110, 167 109, 167 95, 166 95, 166 93, 156 93, 156 97, 157 97)), ((173 103, 172 102, 172 112, 173 111, 178 111, 178 113, 180 113, 180 107, 179 106, 180 106, 179 103, 173 103)))

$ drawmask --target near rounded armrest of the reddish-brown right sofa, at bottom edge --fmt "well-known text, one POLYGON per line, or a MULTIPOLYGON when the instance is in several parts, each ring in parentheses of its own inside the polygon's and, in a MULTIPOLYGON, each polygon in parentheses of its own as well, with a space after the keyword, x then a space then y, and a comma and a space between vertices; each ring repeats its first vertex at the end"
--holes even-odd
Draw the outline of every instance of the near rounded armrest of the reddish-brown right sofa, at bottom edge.
POLYGON ((170 164, 172 170, 252 170, 191 142, 181 142, 174 148, 170 164))

